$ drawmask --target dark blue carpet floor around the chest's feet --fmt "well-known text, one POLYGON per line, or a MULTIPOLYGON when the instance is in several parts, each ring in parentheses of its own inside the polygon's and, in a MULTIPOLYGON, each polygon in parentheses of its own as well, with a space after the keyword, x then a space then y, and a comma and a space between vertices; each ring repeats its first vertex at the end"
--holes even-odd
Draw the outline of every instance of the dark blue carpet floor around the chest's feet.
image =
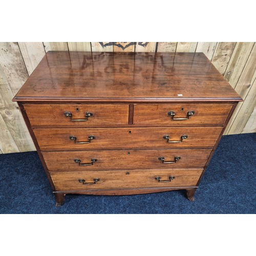
POLYGON ((67 195, 55 207, 36 152, 0 155, 1 214, 255 214, 256 134, 223 136, 196 192, 134 195, 67 195))

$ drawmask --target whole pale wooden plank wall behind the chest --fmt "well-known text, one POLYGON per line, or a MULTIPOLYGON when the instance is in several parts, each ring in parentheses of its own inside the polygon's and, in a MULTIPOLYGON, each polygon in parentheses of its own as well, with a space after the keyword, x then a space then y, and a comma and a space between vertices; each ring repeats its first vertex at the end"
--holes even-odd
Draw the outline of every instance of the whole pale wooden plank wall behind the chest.
POLYGON ((256 132, 254 42, 0 42, 0 154, 35 150, 12 98, 47 51, 203 52, 244 99, 225 134, 256 132))

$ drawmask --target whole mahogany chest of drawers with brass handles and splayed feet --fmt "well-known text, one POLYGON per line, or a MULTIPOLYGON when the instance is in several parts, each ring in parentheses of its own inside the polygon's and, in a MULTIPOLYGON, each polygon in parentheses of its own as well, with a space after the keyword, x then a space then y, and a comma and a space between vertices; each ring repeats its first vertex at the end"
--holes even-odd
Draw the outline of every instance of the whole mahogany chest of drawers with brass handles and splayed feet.
POLYGON ((13 99, 56 205, 186 189, 242 99, 203 53, 48 52, 13 99))

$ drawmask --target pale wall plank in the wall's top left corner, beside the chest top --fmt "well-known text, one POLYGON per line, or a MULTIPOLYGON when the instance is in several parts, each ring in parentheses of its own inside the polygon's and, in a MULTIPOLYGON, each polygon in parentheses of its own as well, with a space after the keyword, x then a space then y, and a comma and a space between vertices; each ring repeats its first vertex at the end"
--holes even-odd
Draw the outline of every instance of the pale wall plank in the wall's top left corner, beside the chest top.
POLYGON ((0 42, 0 66, 16 94, 29 77, 17 42, 0 42))

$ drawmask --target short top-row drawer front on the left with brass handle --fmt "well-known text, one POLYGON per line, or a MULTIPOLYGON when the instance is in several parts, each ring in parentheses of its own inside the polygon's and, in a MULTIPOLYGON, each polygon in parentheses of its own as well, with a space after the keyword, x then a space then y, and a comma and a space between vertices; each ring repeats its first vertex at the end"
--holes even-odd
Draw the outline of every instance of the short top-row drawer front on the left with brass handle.
POLYGON ((25 104, 32 127, 37 126, 115 126, 128 124, 125 104, 25 104))

